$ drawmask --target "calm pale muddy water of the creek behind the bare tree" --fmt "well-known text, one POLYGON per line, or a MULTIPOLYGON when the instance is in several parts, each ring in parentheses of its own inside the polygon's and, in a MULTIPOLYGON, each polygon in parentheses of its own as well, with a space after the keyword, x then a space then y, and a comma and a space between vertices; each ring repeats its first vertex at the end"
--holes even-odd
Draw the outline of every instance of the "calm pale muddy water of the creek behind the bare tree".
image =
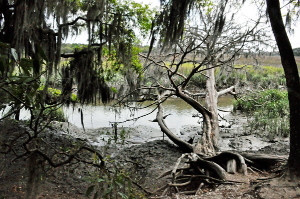
MULTIPOLYGON (((201 102, 204 103, 204 102, 201 102)), ((143 104, 146 106, 147 104, 143 104)), ((162 105, 164 115, 171 114, 165 119, 166 125, 169 128, 175 129, 176 132, 179 132, 181 126, 184 125, 197 125, 198 117, 192 117, 194 114, 197 114, 197 111, 194 110, 190 105, 184 102, 181 99, 169 99, 165 101, 162 105)), ((136 111, 130 111, 129 109, 116 110, 110 106, 104 106, 100 104, 98 106, 83 106, 69 109, 65 109, 64 112, 68 117, 68 120, 71 124, 76 125, 77 127, 82 127, 80 113, 78 108, 82 108, 83 112, 83 124, 85 128, 100 128, 100 127, 109 127, 109 122, 120 122, 119 126, 123 127, 133 127, 137 125, 146 125, 152 126, 153 128, 158 128, 157 123, 149 122, 149 120, 155 119, 157 110, 153 109, 155 106, 147 107, 145 109, 138 109, 136 111), (136 121, 128 121, 121 123, 128 119, 133 119, 140 117, 142 115, 148 114, 153 111, 151 114, 139 118, 136 121)), ((232 109, 232 98, 231 96, 221 96, 218 99, 218 108, 225 111, 231 111, 232 109)), ((219 111, 221 116, 228 114, 228 112, 219 111)), ((222 125, 222 124, 220 124, 222 125)))

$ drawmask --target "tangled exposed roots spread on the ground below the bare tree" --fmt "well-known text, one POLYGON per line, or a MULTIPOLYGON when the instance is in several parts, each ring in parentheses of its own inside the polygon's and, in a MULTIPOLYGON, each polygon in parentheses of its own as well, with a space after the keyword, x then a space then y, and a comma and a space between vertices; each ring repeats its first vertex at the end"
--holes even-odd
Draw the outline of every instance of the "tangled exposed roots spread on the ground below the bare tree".
MULTIPOLYGON (((207 157, 196 153, 182 154, 182 156, 178 158, 173 170, 167 171, 157 178, 159 179, 171 175, 171 179, 172 179, 171 182, 164 185, 161 188, 156 189, 153 192, 153 194, 164 190, 161 196, 159 196, 159 197, 164 197, 167 194, 167 192, 171 190, 170 188, 173 188, 176 194, 196 195, 201 191, 201 189, 205 185, 215 187, 220 184, 242 183, 236 181, 226 181, 226 175, 228 171, 232 171, 232 167, 235 168, 235 170, 233 169, 235 172, 240 172, 243 175, 247 175, 248 166, 251 166, 253 169, 258 170, 255 167, 269 168, 274 164, 274 162, 281 162, 281 161, 286 161, 285 157, 279 157, 279 156, 277 157, 277 156, 263 155, 263 154, 250 154, 250 153, 237 154, 233 152, 222 152, 212 157, 207 157), (188 159, 188 161, 185 162, 183 167, 178 168, 180 162, 186 158, 188 159), (231 167, 228 167, 228 164, 231 167), (194 175, 183 174, 183 172, 191 169, 193 169, 192 171, 194 175), (205 173, 205 175, 202 175, 202 173, 205 173), (199 183, 196 190, 191 190, 191 191, 182 190, 182 187, 191 184, 195 185, 194 184, 195 182, 199 183), (182 191, 180 191, 180 189, 182 191)), ((252 169, 249 169, 249 171, 254 173, 252 169)), ((235 172, 231 172, 231 173, 235 173, 235 172)), ((259 188, 261 184, 271 181, 273 180, 273 178, 257 179, 257 180, 263 180, 263 181, 258 182, 255 186, 252 186, 251 190, 244 194, 251 193, 253 190, 259 188)))

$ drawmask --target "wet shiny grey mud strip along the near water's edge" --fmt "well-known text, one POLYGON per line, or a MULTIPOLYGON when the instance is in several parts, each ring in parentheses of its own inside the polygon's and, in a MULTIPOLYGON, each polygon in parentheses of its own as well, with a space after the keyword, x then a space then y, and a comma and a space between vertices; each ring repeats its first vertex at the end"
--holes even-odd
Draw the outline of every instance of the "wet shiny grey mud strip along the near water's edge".
MULTIPOLYGON (((218 149, 220 151, 257 151, 272 143, 289 143, 289 138, 283 137, 276 137, 274 140, 269 140, 266 132, 262 130, 250 133, 246 117, 239 111, 227 114, 224 119, 229 122, 230 125, 220 127, 218 140, 218 149)), ((56 128, 61 126, 61 129, 57 133, 85 140, 96 147, 104 146, 108 139, 111 139, 115 134, 115 129, 112 127, 85 128, 84 131, 82 128, 78 128, 69 123, 54 122, 53 125, 56 128)), ((201 139, 202 136, 202 129, 199 125, 184 125, 179 132, 176 132, 176 130, 171 127, 169 128, 182 140, 187 141, 190 138, 194 138, 194 144, 198 139, 201 139)), ((166 140, 172 143, 165 135, 163 136, 156 123, 152 123, 152 126, 138 125, 131 128, 118 127, 117 134, 126 135, 124 145, 117 145, 117 148, 129 148, 134 145, 155 140, 166 140)))

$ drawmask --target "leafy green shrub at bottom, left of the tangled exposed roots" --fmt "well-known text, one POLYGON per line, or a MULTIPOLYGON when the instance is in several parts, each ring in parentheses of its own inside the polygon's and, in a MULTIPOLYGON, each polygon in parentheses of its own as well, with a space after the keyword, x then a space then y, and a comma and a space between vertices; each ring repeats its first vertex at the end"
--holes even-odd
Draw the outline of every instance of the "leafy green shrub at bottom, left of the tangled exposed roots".
MULTIPOLYGON (((117 124, 113 124, 116 127, 117 124)), ((104 132, 102 132, 104 134, 104 132)), ((145 199, 143 194, 140 194, 134 186, 132 186, 132 170, 124 169, 124 167, 117 165, 107 154, 109 147, 116 145, 124 146, 125 139, 129 132, 122 129, 117 134, 107 131, 105 135, 108 139, 104 139, 104 154, 106 166, 110 165, 109 172, 106 170, 99 170, 90 172, 85 180, 91 183, 91 186, 86 190, 85 196, 93 195, 93 198, 122 198, 122 199, 145 199), (122 168, 122 169, 120 169, 122 168)), ((99 159, 95 155, 93 158, 94 163, 98 163, 99 159)))

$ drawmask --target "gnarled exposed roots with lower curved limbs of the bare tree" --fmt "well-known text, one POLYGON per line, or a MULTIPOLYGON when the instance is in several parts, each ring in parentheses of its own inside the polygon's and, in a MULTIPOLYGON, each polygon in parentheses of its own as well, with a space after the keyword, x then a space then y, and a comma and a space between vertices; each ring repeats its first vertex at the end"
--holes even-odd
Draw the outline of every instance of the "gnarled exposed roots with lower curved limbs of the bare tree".
MULTIPOLYGON (((152 194, 155 194, 164 190, 160 196, 156 197, 157 199, 166 196, 169 190, 174 190, 176 194, 194 195, 199 193, 204 186, 215 187, 219 184, 241 183, 226 181, 227 173, 235 174, 240 172, 243 175, 247 175, 247 170, 252 173, 254 173, 253 170, 263 173, 260 169, 269 169, 274 163, 287 161, 287 157, 263 154, 222 152, 216 155, 213 147, 214 138, 212 137, 212 125, 210 123, 210 118, 213 113, 180 91, 176 91, 176 96, 183 99, 202 114, 203 134, 201 140, 198 140, 195 146, 180 140, 166 126, 162 106, 161 104, 158 105, 157 115, 153 121, 158 123, 161 131, 174 142, 174 144, 182 151, 189 153, 182 154, 172 170, 166 171, 157 178, 159 179, 171 175, 170 183, 152 192, 152 194), (184 159, 188 160, 184 162, 185 164, 183 166, 179 167, 181 161, 184 159), (185 175, 183 172, 189 172, 189 174, 192 172, 192 175, 185 175), (196 185, 195 182, 199 184, 196 185), (196 185, 196 190, 182 190, 185 186, 191 184, 193 184, 193 187, 196 185)), ((157 101, 159 100, 160 95, 157 96, 157 101)), ((259 185, 259 183, 257 185, 259 185)), ((256 188, 254 187, 253 189, 256 188)))

